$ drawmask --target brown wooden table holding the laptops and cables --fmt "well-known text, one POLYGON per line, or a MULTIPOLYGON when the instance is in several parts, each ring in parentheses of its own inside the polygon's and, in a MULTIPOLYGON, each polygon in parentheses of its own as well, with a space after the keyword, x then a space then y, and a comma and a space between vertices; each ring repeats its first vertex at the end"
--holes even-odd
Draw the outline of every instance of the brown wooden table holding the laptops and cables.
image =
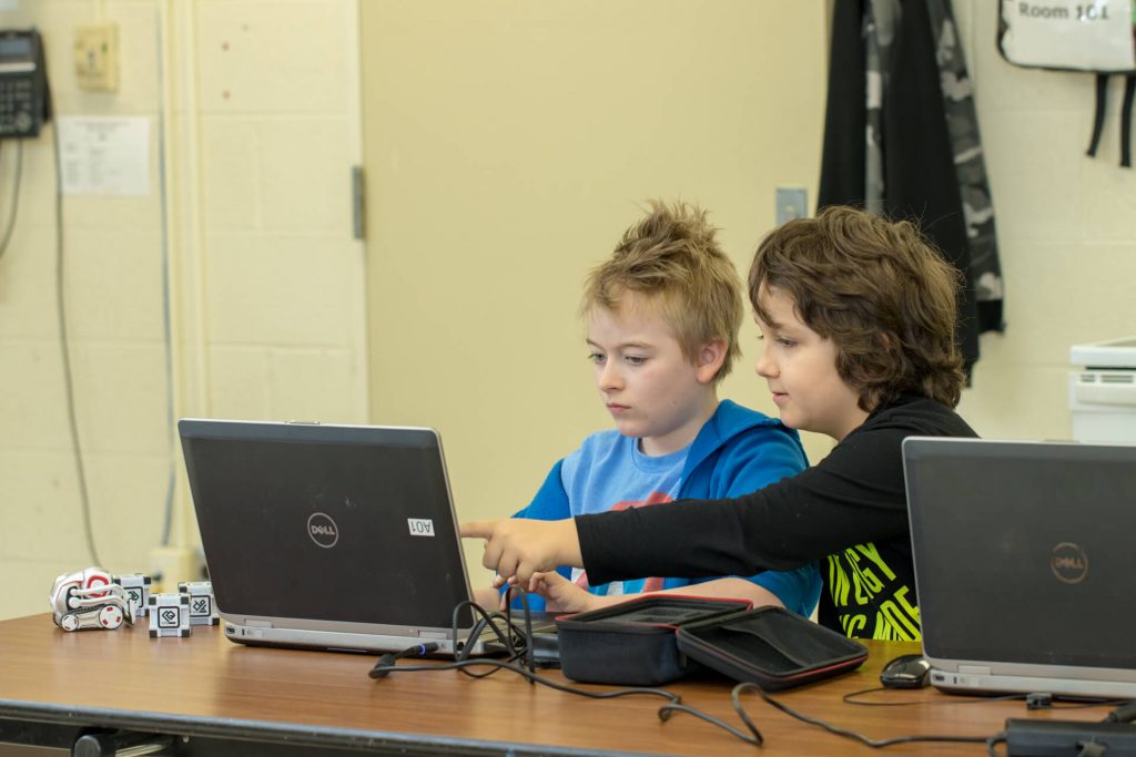
MULTIPOLYGON (((1008 717, 1100 720, 1105 708, 1035 710, 1021 701, 961 704, 932 689, 888 690, 857 707, 845 693, 878 685, 879 668, 918 645, 869 642, 855 673, 776 695, 787 705, 872 738, 911 733, 988 735, 1008 717), (950 704, 949 704, 950 703, 950 704)), ((177 737, 177 754, 738 755, 751 747, 685 714, 662 723, 661 700, 592 700, 533 687, 501 672, 367 676, 362 655, 262 649, 229 642, 218 626, 185 639, 151 639, 145 623, 66 633, 49 615, 0 622, 0 741, 69 748, 84 727, 177 737)), ((559 681, 558 672, 548 673, 559 681)), ((602 687, 592 687, 602 689, 602 687)), ((668 687, 685 704, 740 725, 730 683, 668 687)), ((747 696, 765 755, 880 754, 805 725, 747 696)), ((982 745, 912 743, 887 755, 984 755, 982 745)))

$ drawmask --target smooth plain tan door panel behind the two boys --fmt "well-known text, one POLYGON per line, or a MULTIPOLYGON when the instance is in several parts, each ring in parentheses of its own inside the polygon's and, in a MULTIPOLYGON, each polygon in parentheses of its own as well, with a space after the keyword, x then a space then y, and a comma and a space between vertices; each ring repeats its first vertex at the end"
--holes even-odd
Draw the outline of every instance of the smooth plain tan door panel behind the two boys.
MULTIPOLYGON (((461 518, 610 427, 576 306, 644 199, 710 209, 744 274, 774 187, 815 194, 827 5, 362 3, 371 417, 440 429, 461 518)), ((743 345, 722 395, 774 413, 743 345)))

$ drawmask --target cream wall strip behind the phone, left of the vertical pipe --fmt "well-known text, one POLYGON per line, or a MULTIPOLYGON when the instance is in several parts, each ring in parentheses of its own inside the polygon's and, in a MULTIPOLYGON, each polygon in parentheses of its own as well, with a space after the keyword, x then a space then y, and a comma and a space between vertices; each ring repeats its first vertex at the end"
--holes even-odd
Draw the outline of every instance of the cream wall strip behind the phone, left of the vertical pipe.
MULTIPOLYGON (((35 25, 43 34, 57 116, 136 116, 150 125, 148 195, 74 195, 62 208, 64 302, 93 537, 100 557, 116 567, 136 561, 145 567, 162 532, 173 471, 156 169, 160 66, 154 5, 106 10, 91 2, 24 2, 0 12, 0 26, 35 25), (128 64, 122 87, 109 98, 81 92, 72 75, 72 30, 111 18, 128 64), (145 41, 137 40, 139 28, 145 41)), ((51 123, 23 141, 19 212, 0 260, 0 571, 9 578, 0 616, 47 609, 52 578, 92 564, 58 326, 55 128, 51 123)), ((16 152, 15 141, 0 143, 6 219, 16 152)))

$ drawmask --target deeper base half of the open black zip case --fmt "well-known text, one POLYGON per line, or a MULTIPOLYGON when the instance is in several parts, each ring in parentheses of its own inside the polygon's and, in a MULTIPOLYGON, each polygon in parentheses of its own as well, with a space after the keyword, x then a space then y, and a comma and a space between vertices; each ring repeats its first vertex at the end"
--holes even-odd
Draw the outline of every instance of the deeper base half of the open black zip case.
POLYGON ((749 611, 745 599, 644 596, 557 619, 560 668, 574 681, 659 685, 686 675, 676 629, 749 611))

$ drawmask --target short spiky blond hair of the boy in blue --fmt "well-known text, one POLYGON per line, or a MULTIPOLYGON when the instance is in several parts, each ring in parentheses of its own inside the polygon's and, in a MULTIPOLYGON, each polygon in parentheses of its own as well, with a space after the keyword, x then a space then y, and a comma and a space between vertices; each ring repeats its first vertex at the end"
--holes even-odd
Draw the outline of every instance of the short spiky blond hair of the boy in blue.
POLYGON ((648 201, 646 217, 624 232, 611 255, 588 275, 580 316, 595 306, 618 309, 625 292, 644 295, 691 363, 696 364, 707 343, 726 343, 726 358, 715 376, 720 381, 741 354, 737 333, 745 308, 742 279, 718 246, 716 232, 701 208, 648 201))

